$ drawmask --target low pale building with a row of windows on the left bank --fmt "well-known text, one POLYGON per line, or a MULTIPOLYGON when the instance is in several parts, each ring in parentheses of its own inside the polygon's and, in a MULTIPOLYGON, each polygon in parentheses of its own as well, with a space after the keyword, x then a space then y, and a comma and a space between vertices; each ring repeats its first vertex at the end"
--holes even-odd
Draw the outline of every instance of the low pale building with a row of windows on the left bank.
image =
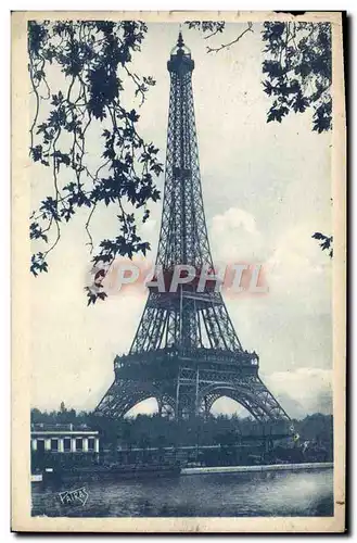
POLYGON ((85 425, 31 425, 30 439, 37 453, 99 453, 99 432, 85 425))

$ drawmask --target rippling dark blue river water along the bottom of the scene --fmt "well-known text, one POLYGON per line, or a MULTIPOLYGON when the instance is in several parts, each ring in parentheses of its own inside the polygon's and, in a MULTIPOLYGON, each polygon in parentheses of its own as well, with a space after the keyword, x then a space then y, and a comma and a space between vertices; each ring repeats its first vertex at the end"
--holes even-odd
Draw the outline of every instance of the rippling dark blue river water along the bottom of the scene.
POLYGON ((254 517, 333 515, 333 470, 184 475, 91 481, 44 488, 33 483, 33 516, 254 517), (85 505, 59 492, 86 488, 85 505))

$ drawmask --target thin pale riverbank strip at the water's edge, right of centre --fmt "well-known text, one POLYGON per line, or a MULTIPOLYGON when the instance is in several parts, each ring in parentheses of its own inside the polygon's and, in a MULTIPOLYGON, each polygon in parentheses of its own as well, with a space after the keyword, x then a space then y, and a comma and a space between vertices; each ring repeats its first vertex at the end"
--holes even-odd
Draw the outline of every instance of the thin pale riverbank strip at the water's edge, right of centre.
POLYGON ((333 468, 333 462, 315 462, 305 464, 271 464, 262 466, 214 466, 201 468, 182 468, 181 475, 204 473, 240 473, 251 471, 297 471, 301 469, 327 469, 333 468))

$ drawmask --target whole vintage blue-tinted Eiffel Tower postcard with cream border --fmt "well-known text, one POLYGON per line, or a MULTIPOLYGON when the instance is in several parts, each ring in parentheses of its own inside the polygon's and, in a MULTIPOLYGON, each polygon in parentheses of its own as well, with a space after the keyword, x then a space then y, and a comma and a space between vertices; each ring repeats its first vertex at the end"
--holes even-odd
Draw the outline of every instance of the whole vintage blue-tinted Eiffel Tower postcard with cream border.
POLYGON ((345 530, 342 38, 13 12, 12 530, 345 530))

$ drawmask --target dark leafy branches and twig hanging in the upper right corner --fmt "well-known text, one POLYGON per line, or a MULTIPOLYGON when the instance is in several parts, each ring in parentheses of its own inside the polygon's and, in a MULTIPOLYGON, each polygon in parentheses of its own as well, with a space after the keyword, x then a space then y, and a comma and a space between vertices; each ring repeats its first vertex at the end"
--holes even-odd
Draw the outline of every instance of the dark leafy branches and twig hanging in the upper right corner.
MULTIPOLYGON (((222 35, 225 22, 188 21, 188 28, 201 30, 204 39, 222 35)), ((238 43, 253 23, 233 40, 217 47, 207 46, 207 53, 219 52, 238 43)), ((331 24, 266 22, 262 31, 265 60, 264 91, 271 97, 267 123, 281 121, 291 112, 313 109, 313 130, 319 134, 332 127, 331 24)))

